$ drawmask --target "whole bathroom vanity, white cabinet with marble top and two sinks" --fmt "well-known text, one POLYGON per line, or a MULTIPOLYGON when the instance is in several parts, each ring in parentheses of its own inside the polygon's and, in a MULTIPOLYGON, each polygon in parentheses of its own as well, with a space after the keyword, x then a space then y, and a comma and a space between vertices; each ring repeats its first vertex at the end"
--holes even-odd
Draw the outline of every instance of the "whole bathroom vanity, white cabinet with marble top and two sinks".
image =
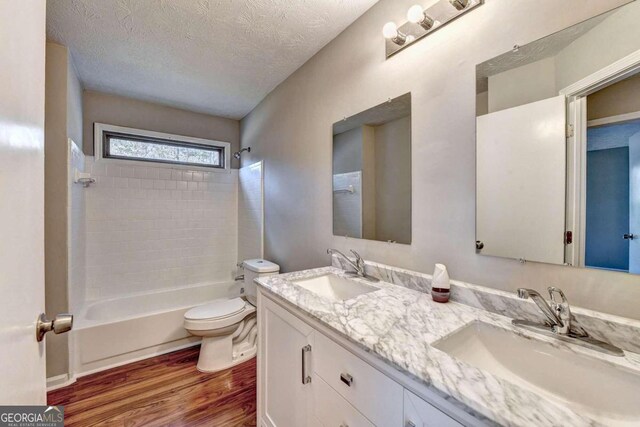
POLYGON ((542 316, 515 294, 454 281, 438 304, 428 275, 333 260, 258 280, 259 425, 640 422, 640 322, 573 308, 615 357, 513 326, 542 316))

